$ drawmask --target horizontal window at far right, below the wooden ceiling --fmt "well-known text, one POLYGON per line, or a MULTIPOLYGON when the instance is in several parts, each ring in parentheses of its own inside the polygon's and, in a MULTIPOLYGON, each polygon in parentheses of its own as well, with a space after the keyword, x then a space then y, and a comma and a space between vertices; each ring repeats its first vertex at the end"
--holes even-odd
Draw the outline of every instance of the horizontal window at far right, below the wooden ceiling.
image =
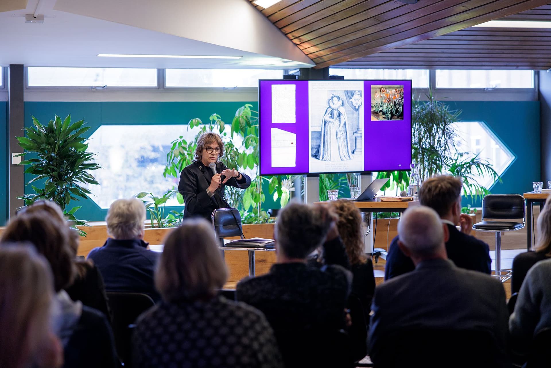
POLYGON ((534 88, 531 70, 436 70, 436 88, 534 88))

